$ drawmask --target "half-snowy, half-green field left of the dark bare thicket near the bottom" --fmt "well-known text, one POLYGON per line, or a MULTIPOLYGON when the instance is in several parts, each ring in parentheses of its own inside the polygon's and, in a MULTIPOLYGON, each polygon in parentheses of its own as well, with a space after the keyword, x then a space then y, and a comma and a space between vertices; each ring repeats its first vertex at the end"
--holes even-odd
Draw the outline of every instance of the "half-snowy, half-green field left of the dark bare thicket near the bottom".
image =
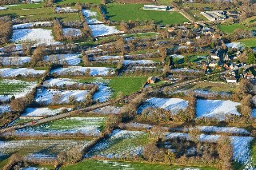
POLYGON ((139 156, 142 154, 142 144, 134 144, 139 136, 145 135, 145 132, 127 131, 116 129, 110 134, 110 138, 102 140, 96 146, 86 153, 85 157, 99 156, 103 158, 123 158, 139 156), (129 144, 122 144, 122 140, 129 140, 129 144), (117 144, 117 145, 115 145, 117 144))

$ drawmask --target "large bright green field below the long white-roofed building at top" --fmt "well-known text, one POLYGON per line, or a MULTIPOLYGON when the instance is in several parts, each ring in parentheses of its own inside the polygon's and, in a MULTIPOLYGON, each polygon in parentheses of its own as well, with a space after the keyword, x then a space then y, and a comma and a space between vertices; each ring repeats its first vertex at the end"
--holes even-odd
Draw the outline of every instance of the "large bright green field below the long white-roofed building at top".
POLYGON ((108 4, 106 6, 107 16, 110 20, 118 22, 137 19, 141 21, 154 20, 154 22, 165 25, 188 22, 178 12, 142 10, 142 6, 143 4, 108 4))

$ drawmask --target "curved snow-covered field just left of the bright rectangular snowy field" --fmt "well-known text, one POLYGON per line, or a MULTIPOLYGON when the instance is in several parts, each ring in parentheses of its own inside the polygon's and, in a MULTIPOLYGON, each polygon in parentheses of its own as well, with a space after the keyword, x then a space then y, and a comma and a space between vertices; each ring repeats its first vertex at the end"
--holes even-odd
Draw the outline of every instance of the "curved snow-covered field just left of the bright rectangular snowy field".
POLYGON ((185 101, 180 98, 157 98, 151 97, 146 100, 144 104, 142 104, 138 108, 138 113, 142 113, 142 111, 148 107, 154 108, 162 108, 166 110, 170 110, 171 113, 178 113, 179 110, 186 110, 188 106, 188 101, 185 101))

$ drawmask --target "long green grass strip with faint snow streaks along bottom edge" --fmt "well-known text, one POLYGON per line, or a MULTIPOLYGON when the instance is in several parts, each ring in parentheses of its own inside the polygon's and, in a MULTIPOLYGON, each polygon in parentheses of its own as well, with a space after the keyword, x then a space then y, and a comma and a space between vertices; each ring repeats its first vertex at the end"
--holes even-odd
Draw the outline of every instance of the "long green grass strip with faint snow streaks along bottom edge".
MULTIPOLYGON (((136 170, 182 170, 187 167, 180 166, 170 166, 165 164, 142 164, 142 163, 132 163, 132 162, 113 162, 107 160, 84 160, 78 164, 67 165, 60 168, 60 170, 95 170, 95 169, 104 169, 104 170, 120 170, 120 169, 136 169, 136 170)), ((191 167, 190 167, 191 168, 191 167)), ((216 168, 198 168, 203 170, 214 170, 216 168)))

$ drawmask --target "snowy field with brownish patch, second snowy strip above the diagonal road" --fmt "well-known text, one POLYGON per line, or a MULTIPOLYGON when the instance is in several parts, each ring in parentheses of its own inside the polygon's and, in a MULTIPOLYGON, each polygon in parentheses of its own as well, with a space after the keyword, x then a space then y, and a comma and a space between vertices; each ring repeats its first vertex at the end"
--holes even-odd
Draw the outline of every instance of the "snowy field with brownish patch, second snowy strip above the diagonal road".
POLYGON ((42 105, 69 103, 70 97, 74 97, 75 101, 85 101, 88 92, 88 90, 44 89, 37 93, 35 101, 42 105))

